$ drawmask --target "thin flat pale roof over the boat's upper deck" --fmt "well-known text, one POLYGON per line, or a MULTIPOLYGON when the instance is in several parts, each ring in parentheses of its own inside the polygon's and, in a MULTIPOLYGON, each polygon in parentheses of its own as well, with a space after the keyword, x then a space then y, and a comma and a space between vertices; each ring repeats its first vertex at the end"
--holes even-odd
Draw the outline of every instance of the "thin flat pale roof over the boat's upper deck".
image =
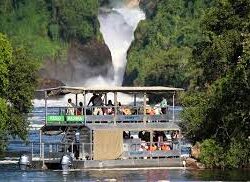
POLYGON ((107 93, 107 92, 123 92, 123 93, 157 93, 157 92, 169 92, 169 91, 184 91, 183 88, 163 87, 163 86, 146 86, 146 87, 70 87, 60 86, 55 88, 46 88, 37 90, 37 92, 47 92, 48 95, 65 95, 69 93, 81 94, 81 93, 107 93))

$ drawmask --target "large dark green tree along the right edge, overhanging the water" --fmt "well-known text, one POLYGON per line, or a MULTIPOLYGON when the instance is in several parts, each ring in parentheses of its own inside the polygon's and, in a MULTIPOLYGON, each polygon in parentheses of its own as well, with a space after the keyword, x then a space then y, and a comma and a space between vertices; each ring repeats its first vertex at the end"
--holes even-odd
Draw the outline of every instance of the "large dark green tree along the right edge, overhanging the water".
MULTIPOLYGON (((197 71, 183 97, 183 129, 194 141, 212 139, 222 147, 225 156, 212 166, 207 163, 210 167, 249 163, 249 16, 249 0, 217 2, 204 16, 206 39, 196 44, 190 61, 197 71), (236 150, 234 143, 243 149, 236 150), (236 154, 239 160, 233 163, 236 154)), ((208 151, 203 151, 205 159, 208 151)))

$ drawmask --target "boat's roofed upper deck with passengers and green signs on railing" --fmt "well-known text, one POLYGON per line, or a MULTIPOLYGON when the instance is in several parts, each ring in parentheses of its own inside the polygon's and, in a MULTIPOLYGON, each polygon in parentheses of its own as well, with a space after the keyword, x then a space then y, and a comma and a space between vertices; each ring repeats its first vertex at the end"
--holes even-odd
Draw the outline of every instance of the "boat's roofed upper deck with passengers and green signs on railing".
MULTIPOLYGON (((182 88, 173 87, 67 87, 61 86, 56 88, 48 88, 38 90, 44 93, 45 100, 45 125, 46 126, 69 126, 69 125, 91 125, 93 129, 105 128, 111 126, 118 128, 133 128, 138 130, 151 125, 153 128, 160 129, 161 127, 176 129, 173 123, 180 119, 176 112, 179 110, 175 106, 175 95, 178 91, 183 91, 182 88), (118 103, 117 93, 122 92, 132 95, 132 105, 121 105, 118 103), (100 94, 104 96, 102 104, 89 106, 87 104, 86 95, 88 93, 100 94), (113 93, 114 104, 108 105, 107 93, 113 93), (147 103, 148 94, 172 94, 172 105, 149 105, 147 103), (47 100, 50 96, 61 96, 66 94, 75 94, 76 102, 72 106, 53 107, 54 112, 50 113, 47 106, 47 100), (84 97, 84 103, 79 105, 78 95, 84 97), (138 95, 141 95, 141 102, 138 102, 138 95), (96 125, 98 124, 98 125, 96 125), (100 125, 102 124, 102 125, 100 125), (134 124, 134 125, 133 125, 134 124)), ((49 128, 49 127, 46 127, 49 128)))

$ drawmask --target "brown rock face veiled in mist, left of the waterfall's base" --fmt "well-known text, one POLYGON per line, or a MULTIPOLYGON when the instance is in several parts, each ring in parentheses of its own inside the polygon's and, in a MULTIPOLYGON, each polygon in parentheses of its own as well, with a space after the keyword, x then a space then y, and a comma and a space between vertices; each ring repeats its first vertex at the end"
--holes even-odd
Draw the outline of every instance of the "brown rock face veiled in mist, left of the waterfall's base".
POLYGON ((82 86, 91 77, 111 78, 111 54, 104 43, 96 40, 85 45, 73 42, 68 49, 66 61, 47 59, 39 75, 42 79, 58 80, 72 86, 82 86))

